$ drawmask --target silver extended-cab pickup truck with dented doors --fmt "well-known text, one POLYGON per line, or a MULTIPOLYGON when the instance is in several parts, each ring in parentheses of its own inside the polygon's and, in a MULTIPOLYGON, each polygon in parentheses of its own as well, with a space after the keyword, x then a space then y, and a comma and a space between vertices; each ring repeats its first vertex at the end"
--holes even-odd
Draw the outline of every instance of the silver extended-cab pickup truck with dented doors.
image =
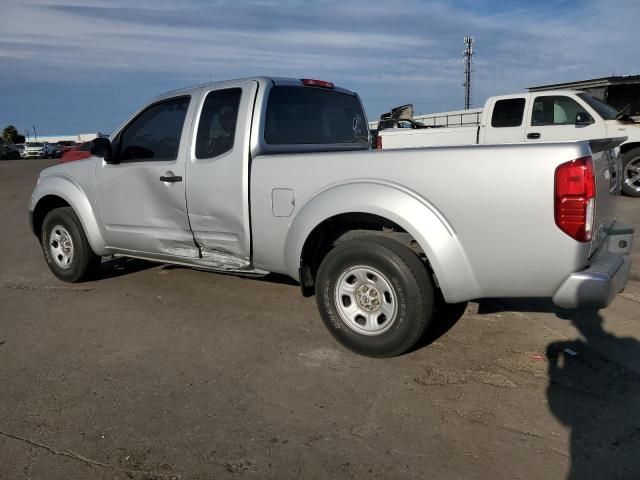
POLYGON ((51 271, 122 255, 285 274, 371 356, 410 349, 437 298, 605 307, 633 230, 616 222, 619 141, 371 151, 358 96, 253 78, 153 99, 93 156, 47 168, 30 220, 51 271))

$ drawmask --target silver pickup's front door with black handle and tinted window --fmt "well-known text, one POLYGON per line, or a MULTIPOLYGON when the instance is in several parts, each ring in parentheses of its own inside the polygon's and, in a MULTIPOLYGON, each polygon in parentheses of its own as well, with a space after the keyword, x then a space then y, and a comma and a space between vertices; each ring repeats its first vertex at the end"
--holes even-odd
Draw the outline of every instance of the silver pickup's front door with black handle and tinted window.
POLYGON ((112 139, 117 164, 96 168, 96 208, 107 245, 163 258, 196 257, 185 200, 189 95, 144 108, 112 139))

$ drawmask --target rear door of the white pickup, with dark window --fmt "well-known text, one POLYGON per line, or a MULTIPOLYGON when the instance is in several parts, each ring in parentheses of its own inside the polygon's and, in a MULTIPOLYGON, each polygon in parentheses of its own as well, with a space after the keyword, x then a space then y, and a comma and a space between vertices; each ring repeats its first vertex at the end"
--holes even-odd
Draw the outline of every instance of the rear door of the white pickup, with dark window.
POLYGON ((524 137, 524 113, 528 95, 491 99, 480 129, 480 143, 518 143, 524 137))

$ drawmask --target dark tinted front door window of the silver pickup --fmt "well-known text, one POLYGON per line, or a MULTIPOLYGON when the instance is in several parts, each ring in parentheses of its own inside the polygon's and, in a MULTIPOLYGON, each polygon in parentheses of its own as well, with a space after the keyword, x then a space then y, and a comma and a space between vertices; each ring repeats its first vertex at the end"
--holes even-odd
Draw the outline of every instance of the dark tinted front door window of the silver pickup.
POLYGON ((138 115, 120 135, 119 160, 176 160, 189 100, 190 97, 177 97, 158 102, 138 115))

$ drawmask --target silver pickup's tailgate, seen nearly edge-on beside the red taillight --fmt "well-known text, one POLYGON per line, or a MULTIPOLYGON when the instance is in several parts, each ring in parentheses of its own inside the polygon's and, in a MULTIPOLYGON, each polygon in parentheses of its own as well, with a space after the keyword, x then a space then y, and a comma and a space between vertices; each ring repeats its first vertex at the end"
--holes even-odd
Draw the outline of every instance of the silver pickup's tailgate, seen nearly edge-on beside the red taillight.
POLYGON ((622 164, 618 147, 626 140, 608 138, 589 141, 596 179, 596 206, 593 240, 589 255, 593 255, 607 237, 607 230, 616 218, 616 196, 620 195, 622 164))

